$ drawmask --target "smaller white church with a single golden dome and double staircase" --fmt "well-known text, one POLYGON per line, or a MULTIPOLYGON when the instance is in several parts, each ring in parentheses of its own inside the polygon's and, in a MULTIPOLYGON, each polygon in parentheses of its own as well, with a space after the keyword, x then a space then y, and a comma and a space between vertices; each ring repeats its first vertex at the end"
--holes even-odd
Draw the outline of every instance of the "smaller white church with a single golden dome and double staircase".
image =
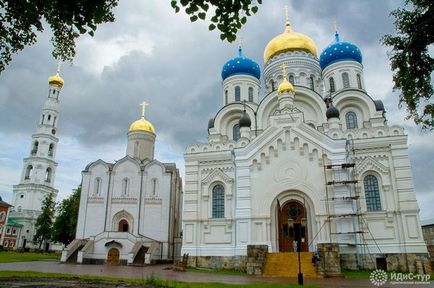
POLYGON ((126 156, 97 160, 82 172, 76 239, 61 262, 140 265, 179 257, 181 177, 175 164, 154 158, 145 105, 129 128, 126 156))

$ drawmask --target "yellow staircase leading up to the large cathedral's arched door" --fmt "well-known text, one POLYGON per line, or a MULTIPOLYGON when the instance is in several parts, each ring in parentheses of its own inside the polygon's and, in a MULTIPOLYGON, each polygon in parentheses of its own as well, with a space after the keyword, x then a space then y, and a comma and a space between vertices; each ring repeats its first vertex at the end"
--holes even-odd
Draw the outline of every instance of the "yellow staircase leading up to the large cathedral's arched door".
MULTIPOLYGON (((318 277, 316 267, 312 264, 312 252, 301 252, 300 262, 304 277, 318 277)), ((263 277, 297 277, 298 253, 268 253, 263 271, 263 277)))

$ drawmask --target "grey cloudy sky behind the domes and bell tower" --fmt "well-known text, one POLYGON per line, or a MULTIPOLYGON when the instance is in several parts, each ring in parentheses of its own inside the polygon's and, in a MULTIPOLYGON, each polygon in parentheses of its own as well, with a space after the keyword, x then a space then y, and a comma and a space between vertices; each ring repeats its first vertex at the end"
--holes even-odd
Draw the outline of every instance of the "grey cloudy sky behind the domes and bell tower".
MULTIPOLYGON (((264 2, 239 33, 245 54, 261 66, 265 45, 283 32, 284 5, 290 6, 294 30, 309 35, 319 51, 333 40, 334 19, 341 39, 360 47, 368 93, 383 100, 389 124, 403 125, 409 135, 421 218, 434 218, 434 134, 404 120, 392 92, 387 48, 379 42, 393 32, 389 13, 400 1, 264 2)), ((122 0, 115 15, 116 22, 100 26, 95 37, 80 38, 73 64, 62 67, 57 200, 80 184, 87 163, 125 155, 126 133, 140 116, 141 101, 150 103, 147 118, 157 130, 156 157, 176 162, 181 172, 185 147, 205 141, 207 120, 222 103, 221 67, 236 55, 237 44, 221 42, 206 23, 175 14, 169 0, 122 0)), ((39 35, 38 43, 15 55, 0 75, 0 195, 6 201, 30 152, 47 77, 56 70, 50 37, 50 31, 39 35)))

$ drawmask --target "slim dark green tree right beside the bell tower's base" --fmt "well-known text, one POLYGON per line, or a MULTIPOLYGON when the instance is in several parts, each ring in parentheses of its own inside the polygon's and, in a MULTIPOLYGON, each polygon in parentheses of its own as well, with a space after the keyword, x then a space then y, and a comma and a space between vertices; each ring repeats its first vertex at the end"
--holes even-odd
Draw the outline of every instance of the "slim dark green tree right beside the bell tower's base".
POLYGON ((50 240, 51 229, 53 227, 55 202, 53 194, 49 193, 42 201, 41 214, 36 218, 35 235, 33 236, 33 243, 39 244, 41 249, 42 243, 50 240))

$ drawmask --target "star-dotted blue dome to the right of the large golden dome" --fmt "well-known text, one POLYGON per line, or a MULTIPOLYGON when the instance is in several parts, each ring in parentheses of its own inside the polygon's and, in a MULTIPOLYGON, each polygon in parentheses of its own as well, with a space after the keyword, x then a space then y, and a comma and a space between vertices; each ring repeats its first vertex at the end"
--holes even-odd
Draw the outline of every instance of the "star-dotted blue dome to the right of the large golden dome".
POLYGON ((330 44, 319 56, 319 65, 325 69, 330 64, 339 61, 356 61, 362 64, 362 53, 359 47, 350 42, 339 41, 339 34, 335 34, 335 42, 330 44))

